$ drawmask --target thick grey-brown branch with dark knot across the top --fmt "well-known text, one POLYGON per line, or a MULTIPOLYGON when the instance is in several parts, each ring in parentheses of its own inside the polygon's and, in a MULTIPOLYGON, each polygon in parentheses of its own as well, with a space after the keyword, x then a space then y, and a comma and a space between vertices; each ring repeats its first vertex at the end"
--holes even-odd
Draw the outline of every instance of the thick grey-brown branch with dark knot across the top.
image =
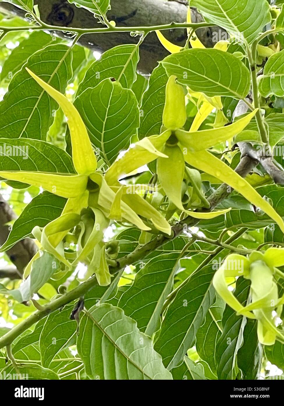
MULTIPOLYGON (((102 24, 94 18, 88 10, 77 8, 67 0, 36 0, 41 19, 46 24, 76 28, 102 28, 102 24)), ((25 12, 13 4, 1 2, 0 10, 9 11, 24 17, 25 12)), ((171 22, 186 22, 187 6, 176 0, 111 0, 111 10, 107 17, 115 21, 117 26, 156 26, 170 24, 171 22)), ((192 9, 192 23, 203 21, 196 9, 192 9)), ((196 30, 199 39, 207 48, 213 47, 212 32, 219 30, 217 27, 200 28, 196 30)), ((185 29, 165 31, 164 35, 176 45, 184 46, 187 34, 185 29)), ((66 37, 66 33, 61 33, 66 37)), ((83 35, 79 43, 92 50, 104 52, 116 45, 137 43, 137 38, 130 37, 128 32, 113 32, 106 34, 83 35)), ((147 35, 140 48, 139 71, 150 73, 159 60, 164 59, 169 53, 160 44, 154 32, 147 35)))

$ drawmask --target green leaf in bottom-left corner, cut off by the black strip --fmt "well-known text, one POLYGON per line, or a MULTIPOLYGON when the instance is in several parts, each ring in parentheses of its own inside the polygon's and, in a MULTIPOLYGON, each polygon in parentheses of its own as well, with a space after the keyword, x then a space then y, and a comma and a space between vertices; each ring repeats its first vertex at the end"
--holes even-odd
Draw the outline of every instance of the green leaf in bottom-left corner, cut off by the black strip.
MULTIPOLYGON (((18 365, 19 374, 28 376, 28 380, 58 380, 58 375, 53 372, 51 369, 43 368, 41 365, 38 364, 29 364, 26 363, 24 365, 18 365)), ((8 374, 16 374, 15 368, 13 365, 9 365, 6 368, 2 369, 1 374, 3 375, 3 379, 11 379, 8 374), (4 372, 6 375, 4 375, 4 372), (6 378, 4 378, 6 376, 6 378)), ((19 378, 18 378, 19 379, 19 378)))

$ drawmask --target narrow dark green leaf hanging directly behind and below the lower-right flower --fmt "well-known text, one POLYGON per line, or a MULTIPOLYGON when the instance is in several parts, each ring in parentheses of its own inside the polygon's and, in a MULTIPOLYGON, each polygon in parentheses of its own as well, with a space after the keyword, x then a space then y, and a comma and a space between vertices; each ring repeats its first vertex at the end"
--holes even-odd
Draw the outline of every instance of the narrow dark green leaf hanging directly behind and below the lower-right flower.
MULTIPOLYGON (((241 304, 248 300, 250 281, 239 278, 236 283, 234 295, 241 304)), ((222 318, 222 335, 217 342, 216 362, 218 379, 235 379, 237 365, 237 352, 243 344, 243 329, 246 317, 237 316, 235 310, 226 305, 222 318)))

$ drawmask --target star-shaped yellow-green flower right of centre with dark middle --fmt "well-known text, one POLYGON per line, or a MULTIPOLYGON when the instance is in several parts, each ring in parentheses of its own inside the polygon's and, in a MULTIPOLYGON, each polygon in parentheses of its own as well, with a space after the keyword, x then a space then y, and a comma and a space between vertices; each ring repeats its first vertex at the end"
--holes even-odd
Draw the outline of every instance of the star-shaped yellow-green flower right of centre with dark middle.
MULTIPOLYGON (((240 177, 233 169, 224 162, 216 158, 207 149, 217 143, 225 142, 241 132, 250 123, 257 110, 254 110, 245 117, 239 119, 231 125, 217 127, 210 130, 197 131, 196 121, 192 124, 190 131, 185 131, 181 127, 186 121, 185 97, 182 86, 177 84, 175 77, 171 76, 166 87, 166 102, 163 114, 163 124, 165 131, 160 135, 143 138, 134 147, 130 148, 122 158, 114 162, 107 173, 105 179, 109 185, 116 185, 117 180, 122 175, 127 174, 127 170, 133 171, 135 168, 148 164, 157 159, 157 173, 160 184, 167 194, 169 201, 177 208, 195 218, 213 218, 224 214, 227 210, 215 212, 193 212, 188 211, 182 204, 182 182, 184 179, 185 163, 206 172, 209 175, 225 182, 237 192, 242 194, 248 201, 256 207, 260 207, 279 225, 284 232, 284 222, 271 205, 262 199, 248 182, 240 177), (173 109, 171 109, 173 106, 173 109)), ((208 104, 208 102, 206 102, 208 104)), ((212 110, 212 105, 211 110, 212 110)), ((205 114, 209 114, 207 110, 205 114)), ((198 123, 204 120, 198 120, 198 123)))

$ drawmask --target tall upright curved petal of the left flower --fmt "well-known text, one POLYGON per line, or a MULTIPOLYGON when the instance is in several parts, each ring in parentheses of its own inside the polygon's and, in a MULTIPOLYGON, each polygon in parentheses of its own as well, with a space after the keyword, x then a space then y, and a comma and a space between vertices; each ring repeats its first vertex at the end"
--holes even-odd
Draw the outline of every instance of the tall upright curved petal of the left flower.
POLYGON ((76 172, 80 175, 89 175, 96 171, 97 161, 92 148, 87 129, 81 116, 73 104, 49 84, 38 78, 26 68, 36 82, 59 104, 67 118, 72 144, 72 159, 76 172))

